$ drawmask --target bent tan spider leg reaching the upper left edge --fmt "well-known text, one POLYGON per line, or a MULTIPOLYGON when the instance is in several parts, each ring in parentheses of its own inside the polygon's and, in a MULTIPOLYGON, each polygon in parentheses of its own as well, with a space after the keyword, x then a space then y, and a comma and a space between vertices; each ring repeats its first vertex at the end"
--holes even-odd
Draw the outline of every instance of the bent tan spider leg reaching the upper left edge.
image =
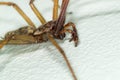
POLYGON ((7 6, 13 6, 13 8, 16 9, 16 11, 24 18, 24 20, 32 27, 35 28, 34 23, 30 20, 30 18, 20 9, 20 7, 12 2, 0 2, 0 5, 7 5, 7 6))

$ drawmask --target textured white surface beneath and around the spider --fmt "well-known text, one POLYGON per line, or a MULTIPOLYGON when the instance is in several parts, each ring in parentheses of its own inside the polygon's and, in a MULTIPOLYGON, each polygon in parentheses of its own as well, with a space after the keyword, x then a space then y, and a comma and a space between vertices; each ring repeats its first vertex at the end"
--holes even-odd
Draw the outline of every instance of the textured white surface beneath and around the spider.
MULTIPOLYGON (((21 6, 38 26, 29 0, 12 1, 21 6)), ((61 0, 60 0, 61 1, 61 0)), ((36 0, 45 19, 52 17, 51 0, 36 0)), ((78 47, 58 41, 78 80, 120 80, 120 0, 70 0, 67 21, 76 24, 78 47)), ((10 7, 0 6, 0 36, 27 25, 10 7)), ((73 80, 63 58, 50 43, 5 46, 0 50, 0 80, 73 80)))

